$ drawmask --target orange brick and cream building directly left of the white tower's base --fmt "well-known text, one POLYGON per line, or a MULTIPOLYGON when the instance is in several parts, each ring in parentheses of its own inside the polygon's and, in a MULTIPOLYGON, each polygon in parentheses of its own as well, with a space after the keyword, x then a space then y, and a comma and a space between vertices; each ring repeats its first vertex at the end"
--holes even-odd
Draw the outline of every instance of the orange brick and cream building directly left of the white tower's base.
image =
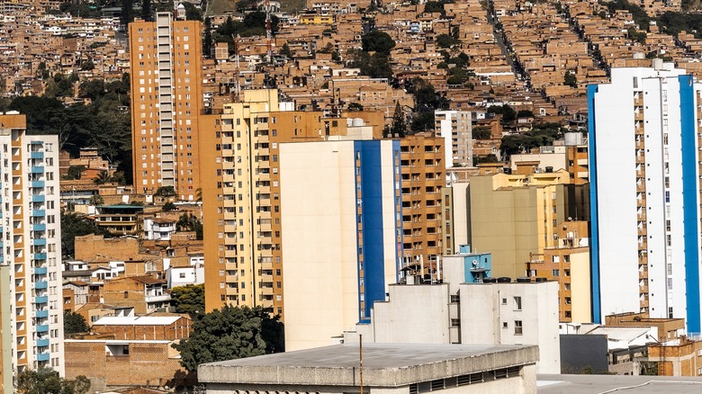
POLYGON ((543 255, 532 255, 527 276, 557 281, 559 320, 590 323, 590 238, 587 221, 565 221, 557 228, 558 242, 543 255))

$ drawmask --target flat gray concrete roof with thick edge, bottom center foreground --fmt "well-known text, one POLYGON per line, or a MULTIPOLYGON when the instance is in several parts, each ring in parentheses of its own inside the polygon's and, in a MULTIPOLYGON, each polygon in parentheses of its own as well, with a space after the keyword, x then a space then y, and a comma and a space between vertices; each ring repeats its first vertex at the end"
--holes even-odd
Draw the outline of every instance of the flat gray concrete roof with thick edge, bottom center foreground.
MULTIPOLYGON (((533 345, 364 344, 364 383, 398 387, 474 372, 534 364, 533 345)), ((266 354, 198 369, 198 380, 230 384, 357 386, 359 345, 266 354)))

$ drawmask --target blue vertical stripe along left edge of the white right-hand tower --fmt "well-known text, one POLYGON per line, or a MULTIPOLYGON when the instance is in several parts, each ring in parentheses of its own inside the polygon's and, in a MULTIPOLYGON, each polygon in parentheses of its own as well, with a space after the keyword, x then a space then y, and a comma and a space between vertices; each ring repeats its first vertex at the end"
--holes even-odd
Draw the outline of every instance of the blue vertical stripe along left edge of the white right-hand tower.
POLYGON ((599 300, 599 218, 597 139, 595 137, 595 94, 598 85, 588 85, 588 156, 590 162, 590 293, 592 294, 592 322, 601 323, 599 300))

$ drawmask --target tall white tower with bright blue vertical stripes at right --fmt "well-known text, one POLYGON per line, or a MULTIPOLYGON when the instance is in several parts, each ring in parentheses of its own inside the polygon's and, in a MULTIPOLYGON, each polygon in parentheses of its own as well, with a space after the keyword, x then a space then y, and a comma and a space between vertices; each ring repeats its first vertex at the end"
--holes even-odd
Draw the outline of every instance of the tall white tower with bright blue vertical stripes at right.
POLYGON ((639 312, 700 329, 702 86, 672 63, 588 88, 594 321, 639 312))

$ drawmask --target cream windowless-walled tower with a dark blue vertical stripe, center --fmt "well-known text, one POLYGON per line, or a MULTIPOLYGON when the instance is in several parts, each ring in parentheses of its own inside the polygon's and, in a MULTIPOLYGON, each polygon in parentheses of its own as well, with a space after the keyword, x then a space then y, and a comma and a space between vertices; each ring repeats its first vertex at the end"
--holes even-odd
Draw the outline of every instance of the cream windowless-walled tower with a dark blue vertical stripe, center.
POLYGON ((401 144, 288 143, 281 160, 285 349, 331 345, 397 282, 401 144))

